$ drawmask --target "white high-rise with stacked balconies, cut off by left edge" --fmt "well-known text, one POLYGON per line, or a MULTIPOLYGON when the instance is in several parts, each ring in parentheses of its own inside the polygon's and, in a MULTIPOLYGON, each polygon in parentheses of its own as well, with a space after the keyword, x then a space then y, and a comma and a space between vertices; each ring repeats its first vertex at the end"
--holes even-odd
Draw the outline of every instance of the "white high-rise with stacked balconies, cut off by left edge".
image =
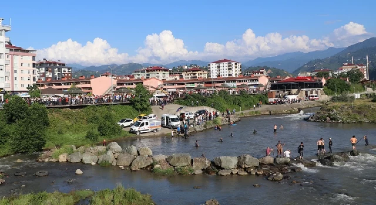
POLYGON ((3 100, 3 94, 5 88, 10 88, 10 84, 6 84, 6 78, 10 77, 10 73, 5 70, 5 66, 11 62, 6 59, 6 53, 9 53, 9 49, 5 48, 5 43, 9 42, 9 37, 5 37, 5 33, 11 30, 10 25, 3 24, 3 18, 0 18, 0 100, 3 100))

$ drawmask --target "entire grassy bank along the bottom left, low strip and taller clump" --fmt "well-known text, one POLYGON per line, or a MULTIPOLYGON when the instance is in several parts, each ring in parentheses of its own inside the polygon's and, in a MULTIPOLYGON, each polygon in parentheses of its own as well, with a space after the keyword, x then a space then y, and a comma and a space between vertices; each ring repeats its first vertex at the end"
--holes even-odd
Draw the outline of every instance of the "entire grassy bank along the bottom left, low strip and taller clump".
POLYGON ((0 199, 0 205, 74 205, 86 199, 91 205, 152 205, 150 195, 143 195, 135 189, 125 189, 117 186, 115 189, 105 189, 97 193, 92 190, 77 190, 70 193, 38 192, 27 195, 11 196, 0 199))

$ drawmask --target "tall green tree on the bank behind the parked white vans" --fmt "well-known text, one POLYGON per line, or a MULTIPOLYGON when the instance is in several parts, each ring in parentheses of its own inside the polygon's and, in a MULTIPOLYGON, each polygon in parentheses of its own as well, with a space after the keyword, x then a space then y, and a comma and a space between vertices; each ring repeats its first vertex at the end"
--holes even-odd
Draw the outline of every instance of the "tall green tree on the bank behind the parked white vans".
POLYGON ((152 97, 149 90, 143 84, 137 84, 135 88, 135 96, 131 98, 133 108, 140 111, 146 111, 150 108, 149 99, 152 97))

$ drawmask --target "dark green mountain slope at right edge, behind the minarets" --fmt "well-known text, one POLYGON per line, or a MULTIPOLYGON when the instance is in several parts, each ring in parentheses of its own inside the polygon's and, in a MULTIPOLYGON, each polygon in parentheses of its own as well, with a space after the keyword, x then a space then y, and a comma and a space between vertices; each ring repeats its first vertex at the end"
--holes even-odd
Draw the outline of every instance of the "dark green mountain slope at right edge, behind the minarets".
POLYGON ((342 66, 343 63, 351 63, 351 57, 354 58, 354 63, 366 63, 365 55, 368 54, 368 61, 370 65, 370 78, 376 78, 376 37, 356 43, 331 57, 323 59, 315 59, 309 61, 305 65, 296 69, 293 73, 298 74, 303 71, 312 71, 315 69, 332 69, 336 70, 342 66))

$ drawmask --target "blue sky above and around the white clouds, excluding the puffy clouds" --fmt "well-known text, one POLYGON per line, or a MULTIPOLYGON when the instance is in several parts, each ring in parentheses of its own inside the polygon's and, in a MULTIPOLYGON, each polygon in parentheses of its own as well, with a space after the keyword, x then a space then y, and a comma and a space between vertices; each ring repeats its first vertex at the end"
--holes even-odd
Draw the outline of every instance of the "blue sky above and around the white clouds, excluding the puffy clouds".
MULTIPOLYGON (((43 49, 68 39, 84 46, 87 41, 92 42, 95 38, 100 38, 106 40, 111 48, 117 48, 118 54, 126 53, 127 55, 121 56, 125 61, 139 59, 139 61, 162 62, 194 57, 197 59, 220 57, 225 54, 222 52, 223 49, 221 51, 210 49, 215 54, 203 54, 205 44, 213 42, 225 45, 226 42, 241 39, 249 28, 256 36, 277 32, 282 37, 305 35, 309 39, 323 39, 331 35, 336 28, 354 22, 364 26, 367 36, 373 36, 373 33, 376 33, 374 23, 376 15, 371 9, 375 6, 375 1, 359 3, 327 0, 80 1, 79 3, 21 0, 17 3, 3 4, 0 17, 5 18, 5 24, 8 24, 11 18, 12 31, 7 33, 7 36, 11 37, 12 43, 17 46, 43 49), (183 47, 193 54, 187 54, 185 51, 181 53, 180 49, 168 57, 143 54, 143 57, 133 58, 139 54, 138 48, 147 47, 144 45, 146 36, 153 33, 160 34, 164 30, 171 31, 174 38, 181 39, 183 47), (195 54, 196 51, 198 53, 195 54)), ((364 32, 360 34, 363 35, 364 32)), ((338 43, 334 40, 332 43, 334 46, 347 46, 346 43, 338 43)), ((294 51, 294 49, 308 52, 323 48, 320 46, 285 48, 277 49, 276 53, 244 51, 232 55, 235 55, 234 57, 240 55, 240 58, 255 58, 294 51)), ((69 51, 68 48, 66 51, 69 51)), ((41 55, 49 54, 41 52, 41 55)), ((70 60, 69 56, 61 56, 61 54, 47 57, 70 60)), ((80 60, 74 61, 80 63, 80 60)))

